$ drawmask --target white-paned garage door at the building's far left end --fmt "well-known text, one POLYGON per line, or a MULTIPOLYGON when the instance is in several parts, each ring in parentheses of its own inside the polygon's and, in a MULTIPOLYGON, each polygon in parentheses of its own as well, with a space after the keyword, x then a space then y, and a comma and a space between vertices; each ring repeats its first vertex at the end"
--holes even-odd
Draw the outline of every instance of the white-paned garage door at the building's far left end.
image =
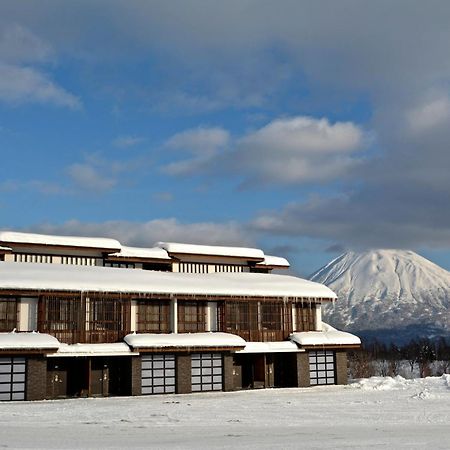
POLYGON ((0 358, 0 400, 25 400, 25 358, 0 358))

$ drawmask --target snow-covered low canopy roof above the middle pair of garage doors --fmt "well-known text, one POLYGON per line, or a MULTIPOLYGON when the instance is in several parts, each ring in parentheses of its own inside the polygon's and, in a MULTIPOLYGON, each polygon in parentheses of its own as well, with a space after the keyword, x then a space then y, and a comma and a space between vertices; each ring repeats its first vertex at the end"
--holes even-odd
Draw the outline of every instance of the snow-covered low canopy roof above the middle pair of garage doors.
POLYGON ((245 341, 230 333, 128 334, 124 341, 133 348, 244 347, 245 341))

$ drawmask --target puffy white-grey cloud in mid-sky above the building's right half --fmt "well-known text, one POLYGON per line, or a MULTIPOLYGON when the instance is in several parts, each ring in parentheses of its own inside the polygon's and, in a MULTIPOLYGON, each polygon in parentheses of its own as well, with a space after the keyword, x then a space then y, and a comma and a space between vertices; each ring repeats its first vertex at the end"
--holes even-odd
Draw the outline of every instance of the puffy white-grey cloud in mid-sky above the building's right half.
POLYGON ((248 184, 326 182, 355 167, 354 153, 366 140, 367 134, 352 122, 331 124, 303 116, 274 120, 234 142, 223 129, 189 130, 166 145, 193 156, 164 170, 171 175, 238 174, 248 184))

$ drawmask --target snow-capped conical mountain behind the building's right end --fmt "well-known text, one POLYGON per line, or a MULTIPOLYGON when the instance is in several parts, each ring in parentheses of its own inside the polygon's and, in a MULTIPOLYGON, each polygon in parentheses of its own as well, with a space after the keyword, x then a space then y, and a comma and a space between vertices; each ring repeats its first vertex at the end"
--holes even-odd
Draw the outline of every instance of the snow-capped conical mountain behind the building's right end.
POLYGON ((348 252, 310 279, 338 295, 324 309, 333 326, 394 342, 450 337, 450 272, 417 253, 348 252))

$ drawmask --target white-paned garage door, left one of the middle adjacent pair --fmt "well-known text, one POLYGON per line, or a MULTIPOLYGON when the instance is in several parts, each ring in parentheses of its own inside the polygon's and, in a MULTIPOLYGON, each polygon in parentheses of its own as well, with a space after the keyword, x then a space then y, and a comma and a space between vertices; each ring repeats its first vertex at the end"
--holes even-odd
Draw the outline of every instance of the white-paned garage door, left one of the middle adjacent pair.
POLYGON ((175 355, 142 356, 142 394, 175 393, 175 355))

